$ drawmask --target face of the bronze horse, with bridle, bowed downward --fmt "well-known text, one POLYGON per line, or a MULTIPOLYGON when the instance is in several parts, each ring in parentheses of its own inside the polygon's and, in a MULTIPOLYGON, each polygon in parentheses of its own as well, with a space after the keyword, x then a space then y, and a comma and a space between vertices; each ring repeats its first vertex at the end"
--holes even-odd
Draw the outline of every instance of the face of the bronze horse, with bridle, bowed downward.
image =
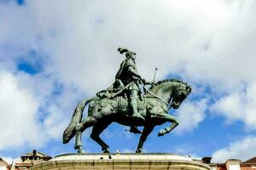
POLYGON ((180 83, 177 88, 172 92, 172 104, 173 109, 178 109, 179 105, 184 99, 191 93, 192 88, 188 84, 180 83))

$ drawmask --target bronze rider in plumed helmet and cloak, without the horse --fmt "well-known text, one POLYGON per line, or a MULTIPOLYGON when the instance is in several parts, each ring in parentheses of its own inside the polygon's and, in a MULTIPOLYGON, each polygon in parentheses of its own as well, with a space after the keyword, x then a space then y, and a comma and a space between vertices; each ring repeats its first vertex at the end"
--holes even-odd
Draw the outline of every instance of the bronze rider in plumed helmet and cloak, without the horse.
MULTIPOLYGON (((152 84, 154 82, 146 82, 143 77, 141 77, 137 71, 136 66, 136 53, 125 48, 118 48, 120 54, 125 53, 126 59, 120 64, 119 71, 115 76, 115 82, 107 90, 102 90, 97 93, 100 98, 113 98, 118 95, 123 95, 128 97, 128 107, 131 116, 137 120, 144 120, 144 117, 137 111, 137 99, 143 98, 139 84, 152 84)), ((131 133, 141 133, 136 126, 131 126, 131 133)))

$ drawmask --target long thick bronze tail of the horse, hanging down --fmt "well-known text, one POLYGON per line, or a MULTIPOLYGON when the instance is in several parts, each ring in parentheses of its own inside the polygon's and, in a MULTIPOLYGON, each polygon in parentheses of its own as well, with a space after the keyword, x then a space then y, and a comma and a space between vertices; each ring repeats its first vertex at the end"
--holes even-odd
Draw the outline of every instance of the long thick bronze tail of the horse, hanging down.
MULTIPOLYGON (((92 98, 92 99, 94 99, 94 98, 92 98)), ((67 144, 69 142, 69 140, 74 137, 74 135, 76 133, 75 128, 79 124, 79 122, 81 122, 81 120, 82 120, 84 107, 88 103, 90 103, 90 101, 92 99, 83 99, 79 103, 79 105, 77 105, 75 110, 73 111, 73 116, 71 118, 71 121, 63 133, 63 139, 62 139, 63 144, 67 144)))

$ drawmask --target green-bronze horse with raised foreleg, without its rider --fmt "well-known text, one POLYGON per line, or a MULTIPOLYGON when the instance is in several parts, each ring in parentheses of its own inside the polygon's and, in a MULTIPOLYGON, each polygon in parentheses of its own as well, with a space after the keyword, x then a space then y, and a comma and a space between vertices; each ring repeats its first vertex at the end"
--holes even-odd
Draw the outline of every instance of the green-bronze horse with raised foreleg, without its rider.
POLYGON ((109 146, 101 138, 100 134, 112 122, 118 122, 125 126, 143 126, 143 133, 137 145, 137 153, 143 151, 143 144, 152 132, 154 126, 165 122, 172 122, 169 127, 161 129, 158 136, 170 133, 177 127, 177 117, 168 114, 169 109, 178 109, 179 105, 191 93, 191 87, 186 82, 169 79, 156 82, 148 92, 138 99, 138 111, 145 120, 137 120, 129 114, 127 99, 122 96, 109 98, 84 99, 73 113, 68 127, 63 133, 63 144, 66 144, 76 135, 75 149, 82 153, 81 135, 88 127, 93 127, 90 138, 102 146, 104 153, 109 152, 109 146), (85 105, 89 104, 88 116, 82 120, 85 105))

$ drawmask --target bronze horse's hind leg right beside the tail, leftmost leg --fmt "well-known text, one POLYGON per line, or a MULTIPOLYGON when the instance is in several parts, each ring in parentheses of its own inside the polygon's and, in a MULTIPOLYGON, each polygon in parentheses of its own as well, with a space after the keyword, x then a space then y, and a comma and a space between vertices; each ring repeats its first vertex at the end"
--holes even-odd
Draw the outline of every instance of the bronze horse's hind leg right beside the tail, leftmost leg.
POLYGON ((96 123, 96 118, 93 116, 88 116, 83 122, 80 122, 76 127, 76 140, 74 149, 78 150, 79 153, 82 153, 82 132, 88 127, 93 126, 96 123))

